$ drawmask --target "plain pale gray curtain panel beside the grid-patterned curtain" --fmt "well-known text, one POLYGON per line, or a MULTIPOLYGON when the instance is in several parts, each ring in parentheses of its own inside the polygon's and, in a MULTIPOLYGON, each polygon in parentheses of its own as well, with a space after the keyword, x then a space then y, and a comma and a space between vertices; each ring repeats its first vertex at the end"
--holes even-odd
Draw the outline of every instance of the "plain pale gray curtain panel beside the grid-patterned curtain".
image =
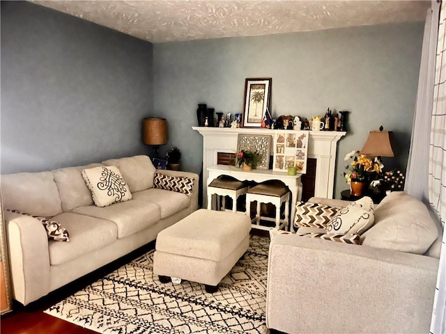
POLYGON ((438 36, 439 4, 433 1, 426 13, 424 36, 418 77, 417 104, 410 139, 410 152, 404 191, 425 204, 429 202, 428 166, 431 132, 431 111, 433 104, 433 80, 438 36))

